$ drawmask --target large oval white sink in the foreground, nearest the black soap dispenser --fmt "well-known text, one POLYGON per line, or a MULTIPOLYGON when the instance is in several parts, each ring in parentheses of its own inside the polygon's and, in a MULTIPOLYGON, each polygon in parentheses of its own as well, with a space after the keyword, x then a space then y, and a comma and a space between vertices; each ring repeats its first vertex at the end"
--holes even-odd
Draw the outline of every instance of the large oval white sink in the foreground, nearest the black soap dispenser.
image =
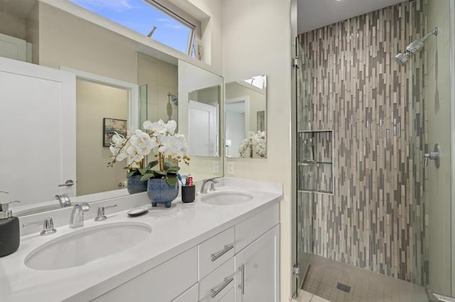
POLYGON ((129 250, 151 234, 145 223, 106 223, 65 234, 31 251, 31 269, 68 269, 129 250))

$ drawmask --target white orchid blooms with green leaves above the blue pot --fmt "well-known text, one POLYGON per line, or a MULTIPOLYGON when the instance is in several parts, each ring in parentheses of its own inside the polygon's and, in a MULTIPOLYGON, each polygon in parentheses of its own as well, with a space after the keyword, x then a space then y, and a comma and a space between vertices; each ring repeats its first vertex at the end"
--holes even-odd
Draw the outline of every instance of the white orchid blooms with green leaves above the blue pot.
POLYGON ((170 186, 175 185, 180 169, 178 162, 189 164, 190 161, 185 135, 175 133, 176 128, 176 121, 168 123, 162 120, 155 123, 145 121, 145 131, 137 129, 127 137, 115 133, 112 136, 113 143, 109 147, 112 162, 109 162, 107 167, 113 167, 115 162, 128 159, 127 177, 140 174, 143 181, 150 178, 165 178, 170 186), (150 153, 157 158, 143 168, 142 163, 150 153), (153 169, 156 165, 159 169, 153 169))

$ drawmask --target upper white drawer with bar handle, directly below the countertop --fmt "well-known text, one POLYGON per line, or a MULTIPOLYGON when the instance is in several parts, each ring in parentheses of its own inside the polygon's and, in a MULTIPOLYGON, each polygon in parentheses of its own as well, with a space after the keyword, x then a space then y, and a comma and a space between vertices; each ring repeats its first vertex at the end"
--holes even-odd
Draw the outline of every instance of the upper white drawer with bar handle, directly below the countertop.
POLYGON ((234 227, 205 240, 198 245, 199 280, 234 256, 234 227))

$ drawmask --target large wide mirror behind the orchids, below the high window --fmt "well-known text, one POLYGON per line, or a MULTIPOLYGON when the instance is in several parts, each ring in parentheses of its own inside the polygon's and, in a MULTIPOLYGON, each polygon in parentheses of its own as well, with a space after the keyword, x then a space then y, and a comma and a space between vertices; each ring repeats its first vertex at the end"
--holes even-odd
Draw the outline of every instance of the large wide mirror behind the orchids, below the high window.
MULTIPOLYGON (((90 202, 128 194, 125 189, 126 162, 119 162, 113 168, 107 167, 110 156, 109 133, 112 134, 112 129, 119 132, 134 130, 141 127, 141 123, 146 120, 174 120, 178 123, 178 131, 185 134, 186 139, 191 142, 188 133, 188 129, 191 129, 188 126, 191 121, 188 109, 190 99, 214 108, 214 120, 210 125, 218 128, 210 129, 216 141, 211 141, 208 152, 200 153, 196 150, 191 157, 190 166, 182 167, 182 173, 191 173, 195 181, 223 176, 219 135, 222 95, 220 87, 223 87, 223 78, 156 50, 147 43, 139 43, 138 39, 87 21, 97 17, 66 2, 58 3, 65 4, 65 9, 62 9, 46 1, 0 0, 0 51, 2 43, 3 46, 10 45, 11 41, 17 45, 23 44, 25 55, 15 59, 31 62, 33 66, 50 67, 52 70, 58 69, 59 72, 65 69, 64 72, 75 74, 75 104, 69 106, 72 108, 69 114, 74 121, 68 120, 73 127, 68 132, 63 133, 62 128, 55 127, 58 125, 56 122, 62 120, 58 117, 61 113, 60 107, 44 101, 36 106, 37 99, 33 96, 17 100, 26 108, 18 115, 21 121, 30 120, 44 124, 48 127, 46 131, 58 129, 59 139, 65 137, 70 141, 69 144, 63 141, 56 143, 51 138, 57 136, 39 133, 43 135, 42 139, 31 140, 33 150, 29 149, 23 156, 33 157, 39 162, 40 152, 52 150, 53 158, 60 161, 68 159, 68 154, 72 154, 70 162, 74 163, 71 168, 73 174, 68 175, 62 172, 65 170, 63 167, 47 162, 34 172, 34 180, 28 181, 28 178, 24 179, 24 175, 20 174, 28 171, 26 161, 19 160, 11 164, 7 157, 0 154, 0 160, 4 161, 1 162, 0 179, 13 179, 15 185, 26 181, 26 189, 9 186, 6 182, 1 183, 0 191, 10 191, 10 194, 2 196, 1 200, 21 200, 21 205, 14 205, 13 210, 19 215, 27 215, 59 208, 60 205, 54 198, 57 194, 70 195, 73 203, 74 200, 90 202), (84 15, 85 13, 87 15, 84 15), (210 101, 208 94, 213 96, 210 101), (215 98, 216 94, 218 99, 215 98), (54 118, 55 123, 53 113, 57 116, 54 118), (62 146, 72 144, 72 151, 64 154, 62 146), (46 172, 43 172, 44 169, 46 172), (45 176, 47 172, 55 179, 55 184, 51 184, 50 189, 42 190, 44 184, 50 181, 50 178, 45 176), (58 186, 65 184, 68 179, 72 179, 75 184, 58 186)), ((11 47, 6 48, 10 54, 0 54, 1 57, 16 53, 16 50, 10 51, 11 47)), ((169 53, 173 52, 170 50, 169 53)), ((18 83, 19 86, 21 83, 18 83)), ((5 112, 16 114, 11 112, 9 105, 2 108, 5 112)), ((14 119, 10 120, 11 123, 1 120, 2 128, 9 128, 9 131, 1 132, 2 141, 14 143, 19 137, 15 134, 14 127, 11 128, 14 119), (6 138, 6 135, 11 137, 6 138)), ((190 153, 192 154, 191 149, 190 153)), ((68 163, 68 160, 65 162, 68 163)))

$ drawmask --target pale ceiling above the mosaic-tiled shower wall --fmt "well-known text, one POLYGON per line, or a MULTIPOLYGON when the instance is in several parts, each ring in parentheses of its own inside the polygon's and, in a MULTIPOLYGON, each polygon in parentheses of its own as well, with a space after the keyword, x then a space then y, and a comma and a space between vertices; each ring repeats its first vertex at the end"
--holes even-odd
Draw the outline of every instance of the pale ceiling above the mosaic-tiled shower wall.
POLYGON ((297 0, 297 30, 309 30, 343 21, 403 0, 297 0))

